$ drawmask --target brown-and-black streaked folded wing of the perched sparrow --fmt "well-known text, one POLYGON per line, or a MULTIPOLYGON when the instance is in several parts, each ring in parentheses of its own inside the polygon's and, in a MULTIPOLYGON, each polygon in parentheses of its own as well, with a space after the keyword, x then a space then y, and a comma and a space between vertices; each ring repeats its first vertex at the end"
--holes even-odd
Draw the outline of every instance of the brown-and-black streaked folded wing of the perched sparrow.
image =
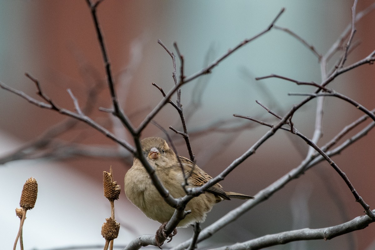
MULTIPOLYGON (((212 179, 210 175, 200 169, 197 165, 195 165, 191 160, 180 156, 181 163, 183 164, 185 174, 188 176, 189 184, 192 187, 200 187, 209 180, 212 179)), ((207 192, 210 192, 216 196, 219 196, 223 199, 230 200, 228 195, 223 190, 223 187, 219 183, 215 183, 213 186, 207 189, 207 192)))

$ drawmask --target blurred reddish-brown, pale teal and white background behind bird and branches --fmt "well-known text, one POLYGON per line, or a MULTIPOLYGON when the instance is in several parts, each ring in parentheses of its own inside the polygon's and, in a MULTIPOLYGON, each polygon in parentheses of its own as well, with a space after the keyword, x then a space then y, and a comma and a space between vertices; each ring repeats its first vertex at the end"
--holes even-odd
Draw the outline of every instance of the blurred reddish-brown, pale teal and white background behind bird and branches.
MULTIPOLYGON (((77 97, 85 113, 119 137, 132 143, 129 134, 111 115, 98 110, 111 108, 101 57, 90 10, 86 1, 1 0, 0 81, 32 97, 35 85, 24 73, 39 80, 54 102, 74 111, 67 89, 77 97)), ((373 1, 360 1, 357 12, 373 1)), ((132 124, 138 124, 162 99, 155 82, 166 92, 172 88, 172 61, 157 43, 160 39, 175 52, 177 42, 184 55, 184 73, 189 76, 234 48, 246 38, 264 30, 277 13, 286 8, 276 23, 301 36, 325 54, 351 22, 353 1, 116 1, 105 0, 98 7, 118 96, 132 124)), ((349 65, 374 51, 375 12, 356 24, 355 49, 349 65)), ((330 70, 339 52, 329 61, 330 70)), ((175 53, 176 54, 176 53, 175 53)), ((178 63, 178 73, 179 66, 178 63)), ((251 147, 268 127, 233 114, 248 115, 275 123, 255 100, 284 115, 304 97, 290 92, 311 92, 281 79, 255 81, 255 77, 279 74, 300 81, 321 82, 317 56, 294 37, 272 30, 228 57, 210 75, 181 89, 196 163, 216 176, 251 147)), ((339 76, 329 86, 374 108, 374 66, 364 65, 339 76)), ((172 98, 175 100, 175 97, 172 98)), ((23 228, 25 249, 56 249, 104 245, 101 225, 110 217, 110 204, 103 196, 102 172, 113 167, 114 179, 123 177, 132 157, 104 135, 82 123, 31 105, 0 90, 0 235, 4 249, 11 249, 19 219, 15 208, 24 182, 34 177, 39 184, 36 206, 27 213, 23 228)), ((294 125, 310 137, 314 132, 313 100, 293 116, 294 125)), ((322 146, 362 113, 332 97, 324 102, 322 146)), ((155 121, 168 130, 178 153, 188 156, 179 136, 178 113, 167 105, 155 121)), ((369 122, 368 122, 369 123, 369 122)), ((365 125, 352 132, 354 135, 365 125)), ((142 137, 162 136, 150 124, 142 137)), ((356 190, 374 208, 374 132, 333 158, 356 190)), ((308 150, 305 142, 279 131, 257 153, 237 167, 222 184, 226 190, 255 195, 296 168, 308 150)), ((210 225, 243 201, 217 204, 202 228, 210 225)), ((121 223, 115 245, 123 246, 140 234, 154 234, 159 227, 127 201, 122 192, 115 202, 121 223)), ((363 215, 363 208, 339 175, 323 162, 288 183, 266 202, 247 212, 199 247, 223 246, 300 228, 323 228, 363 215)), ((192 235, 192 228, 179 229, 175 246, 192 235)), ((375 228, 369 225, 329 241, 303 241, 269 249, 375 249, 375 228)))

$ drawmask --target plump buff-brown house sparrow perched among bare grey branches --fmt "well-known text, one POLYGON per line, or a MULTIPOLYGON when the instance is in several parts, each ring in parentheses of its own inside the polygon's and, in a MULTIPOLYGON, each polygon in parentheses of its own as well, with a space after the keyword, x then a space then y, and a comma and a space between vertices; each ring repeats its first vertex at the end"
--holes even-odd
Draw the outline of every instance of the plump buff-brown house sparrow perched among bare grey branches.
MULTIPOLYGON (((159 137, 149 137, 141 141, 142 152, 150 165, 155 169, 156 175, 174 198, 186 195, 182 183, 184 176, 176 154, 169 148, 166 141, 159 137)), ((189 177, 189 187, 199 187, 211 180, 212 177, 200 169, 189 159, 180 156, 185 175, 189 177)), ((127 171, 124 179, 124 191, 127 198, 138 207, 148 218, 160 223, 171 219, 174 208, 169 206, 151 182, 151 179, 138 158, 134 158, 133 166, 127 171)), ((177 227, 187 227, 195 222, 204 222, 206 214, 213 205, 222 200, 254 199, 252 196, 224 191, 218 183, 207 189, 205 193, 191 199, 185 210, 190 214, 178 223, 177 227)), ((165 226, 165 224, 163 224, 165 226)), ((169 235, 173 236, 173 235, 169 235)))

